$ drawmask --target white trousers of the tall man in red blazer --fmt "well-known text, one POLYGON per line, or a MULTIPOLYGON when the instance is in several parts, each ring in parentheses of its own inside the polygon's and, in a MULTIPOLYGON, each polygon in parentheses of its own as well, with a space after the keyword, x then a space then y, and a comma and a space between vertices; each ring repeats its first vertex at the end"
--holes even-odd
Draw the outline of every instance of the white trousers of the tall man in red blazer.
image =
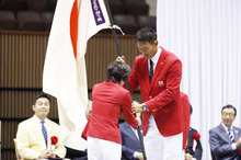
POLYGON ((144 137, 147 160, 183 160, 183 133, 163 137, 152 115, 149 117, 147 135, 144 137))

